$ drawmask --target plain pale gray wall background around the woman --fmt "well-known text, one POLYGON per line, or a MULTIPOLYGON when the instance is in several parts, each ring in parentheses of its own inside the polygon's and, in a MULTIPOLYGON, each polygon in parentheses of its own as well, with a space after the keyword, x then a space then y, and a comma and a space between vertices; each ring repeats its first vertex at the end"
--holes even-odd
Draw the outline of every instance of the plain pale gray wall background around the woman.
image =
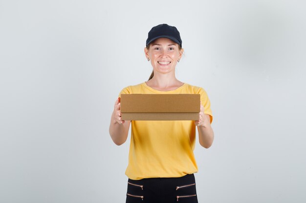
MULTIPOLYGON (((306 202, 302 0, 0 0, 0 203, 123 203, 118 93, 144 82, 149 30, 175 25, 179 80, 203 87, 199 203, 306 202)), ((130 135, 129 135, 130 139, 130 135)))

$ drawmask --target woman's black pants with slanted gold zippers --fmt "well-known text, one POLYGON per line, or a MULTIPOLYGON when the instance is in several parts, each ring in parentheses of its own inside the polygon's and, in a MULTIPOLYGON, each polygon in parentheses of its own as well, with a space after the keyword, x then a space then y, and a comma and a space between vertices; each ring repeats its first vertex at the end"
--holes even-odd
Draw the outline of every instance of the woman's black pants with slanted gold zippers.
POLYGON ((197 203, 195 176, 129 179, 126 203, 197 203))

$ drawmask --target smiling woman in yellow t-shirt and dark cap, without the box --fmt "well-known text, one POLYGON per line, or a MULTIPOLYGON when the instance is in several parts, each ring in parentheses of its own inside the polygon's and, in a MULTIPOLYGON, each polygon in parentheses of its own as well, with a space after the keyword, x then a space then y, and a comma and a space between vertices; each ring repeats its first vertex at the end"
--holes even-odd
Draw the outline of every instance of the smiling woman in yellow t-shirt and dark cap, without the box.
POLYGON ((206 92, 175 78, 175 66, 182 54, 182 40, 175 27, 153 27, 145 47, 153 72, 147 82, 126 87, 120 94, 200 94, 198 121, 123 121, 120 95, 115 102, 109 133, 116 145, 127 140, 131 124, 126 203, 197 203, 193 174, 197 172, 193 153, 196 126, 200 145, 209 148, 214 140, 213 117, 206 92))

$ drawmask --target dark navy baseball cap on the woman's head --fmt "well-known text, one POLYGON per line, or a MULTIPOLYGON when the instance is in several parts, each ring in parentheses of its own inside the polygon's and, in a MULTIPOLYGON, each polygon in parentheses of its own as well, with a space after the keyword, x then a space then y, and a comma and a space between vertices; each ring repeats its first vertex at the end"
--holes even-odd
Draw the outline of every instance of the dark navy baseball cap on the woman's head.
POLYGON ((182 47, 182 40, 179 35, 178 30, 174 26, 170 26, 167 24, 160 24, 153 27, 148 33, 148 39, 146 42, 146 46, 153 42, 155 39, 160 37, 166 37, 176 42, 180 47, 182 47))

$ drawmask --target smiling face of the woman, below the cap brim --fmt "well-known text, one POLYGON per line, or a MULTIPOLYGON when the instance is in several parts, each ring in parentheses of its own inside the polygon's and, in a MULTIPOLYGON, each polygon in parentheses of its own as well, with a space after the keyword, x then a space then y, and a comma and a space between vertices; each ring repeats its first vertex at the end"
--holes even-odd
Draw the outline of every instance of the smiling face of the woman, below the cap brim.
POLYGON ((181 58, 183 49, 168 38, 158 38, 149 48, 145 48, 147 58, 150 58, 154 73, 170 73, 175 71, 177 60, 181 58))

